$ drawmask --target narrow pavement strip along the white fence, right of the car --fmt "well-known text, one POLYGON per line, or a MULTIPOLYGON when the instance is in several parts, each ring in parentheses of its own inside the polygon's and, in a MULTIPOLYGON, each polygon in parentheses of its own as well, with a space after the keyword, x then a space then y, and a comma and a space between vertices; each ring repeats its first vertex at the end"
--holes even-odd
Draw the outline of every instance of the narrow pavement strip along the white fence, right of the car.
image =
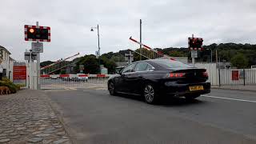
POLYGON ((242 91, 255 91, 256 85, 232 85, 232 86, 212 86, 213 89, 225 89, 225 90, 242 90, 242 91))

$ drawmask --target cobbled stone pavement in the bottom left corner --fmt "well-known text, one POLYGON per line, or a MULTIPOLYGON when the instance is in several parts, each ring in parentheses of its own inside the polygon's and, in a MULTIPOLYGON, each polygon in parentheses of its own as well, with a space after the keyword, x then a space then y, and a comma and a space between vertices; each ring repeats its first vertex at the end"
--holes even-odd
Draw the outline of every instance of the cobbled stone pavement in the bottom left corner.
POLYGON ((70 144, 62 122, 42 90, 0 95, 0 143, 70 144))

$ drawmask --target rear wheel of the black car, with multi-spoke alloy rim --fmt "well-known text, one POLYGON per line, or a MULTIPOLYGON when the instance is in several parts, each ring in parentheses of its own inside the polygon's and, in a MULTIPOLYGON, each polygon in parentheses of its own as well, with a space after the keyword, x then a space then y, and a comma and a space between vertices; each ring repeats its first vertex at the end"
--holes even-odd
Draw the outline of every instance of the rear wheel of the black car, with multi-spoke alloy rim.
POLYGON ((143 96, 145 98, 145 101, 150 104, 156 103, 158 100, 158 96, 154 89, 154 86, 152 86, 151 84, 146 84, 146 86, 144 87, 143 96))

